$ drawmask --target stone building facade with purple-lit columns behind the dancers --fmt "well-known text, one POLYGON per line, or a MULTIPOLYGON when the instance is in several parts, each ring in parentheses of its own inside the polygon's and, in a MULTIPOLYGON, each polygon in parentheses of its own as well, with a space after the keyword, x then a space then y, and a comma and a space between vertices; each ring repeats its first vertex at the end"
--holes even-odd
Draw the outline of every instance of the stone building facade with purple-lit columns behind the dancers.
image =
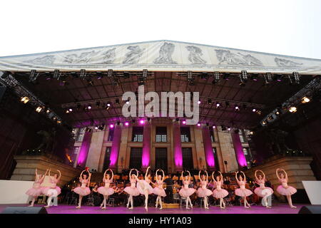
POLYGON ((252 162, 247 131, 206 124, 184 125, 170 118, 115 123, 103 130, 75 128, 74 167, 106 168, 121 172, 131 168, 162 168, 167 172, 220 170, 232 172, 252 162), (235 149, 236 148, 236 149, 235 149), (240 150, 240 151, 238 151, 240 150), (243 158, 244 159, 244 158, 243 158))

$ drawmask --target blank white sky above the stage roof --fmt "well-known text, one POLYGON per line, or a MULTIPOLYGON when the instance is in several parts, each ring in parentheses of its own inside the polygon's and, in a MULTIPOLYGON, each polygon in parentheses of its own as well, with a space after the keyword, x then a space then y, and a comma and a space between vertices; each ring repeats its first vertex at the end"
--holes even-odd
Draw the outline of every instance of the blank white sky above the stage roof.
POLYGON ((0 1, 0 56, 168 39, 321 59, 321 1, 0 1))

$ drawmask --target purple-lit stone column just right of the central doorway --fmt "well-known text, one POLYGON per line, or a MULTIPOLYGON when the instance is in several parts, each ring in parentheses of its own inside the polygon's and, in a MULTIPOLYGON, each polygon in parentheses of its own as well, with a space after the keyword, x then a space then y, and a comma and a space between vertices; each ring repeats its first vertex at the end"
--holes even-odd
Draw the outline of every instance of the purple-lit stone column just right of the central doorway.
POLYGON ((177 121, 173 123, 173 145, 175 171, 180 172, 183 170, 183 152, 180 141, 180 123, 177 121))

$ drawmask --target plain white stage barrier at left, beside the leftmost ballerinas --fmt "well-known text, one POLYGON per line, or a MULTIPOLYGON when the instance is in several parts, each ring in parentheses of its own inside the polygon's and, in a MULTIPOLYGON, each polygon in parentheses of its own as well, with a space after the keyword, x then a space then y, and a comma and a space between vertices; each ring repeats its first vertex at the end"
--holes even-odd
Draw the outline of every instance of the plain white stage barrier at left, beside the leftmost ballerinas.
POLYGON ((29 196, 26 191, 33 185, 33 181, 0 180, 0 204, 28 203, 29 196))

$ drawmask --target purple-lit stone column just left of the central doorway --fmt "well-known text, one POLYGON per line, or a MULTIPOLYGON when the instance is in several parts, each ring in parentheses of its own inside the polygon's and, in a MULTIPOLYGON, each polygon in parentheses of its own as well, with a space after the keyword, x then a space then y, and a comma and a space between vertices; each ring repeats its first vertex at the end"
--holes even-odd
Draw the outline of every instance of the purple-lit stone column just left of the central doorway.
POLYGON ((145 121, 144 130, 143 130, 143 154, 141 156, 141 168, 143 171, 151 163, 151 123, 145 121))

